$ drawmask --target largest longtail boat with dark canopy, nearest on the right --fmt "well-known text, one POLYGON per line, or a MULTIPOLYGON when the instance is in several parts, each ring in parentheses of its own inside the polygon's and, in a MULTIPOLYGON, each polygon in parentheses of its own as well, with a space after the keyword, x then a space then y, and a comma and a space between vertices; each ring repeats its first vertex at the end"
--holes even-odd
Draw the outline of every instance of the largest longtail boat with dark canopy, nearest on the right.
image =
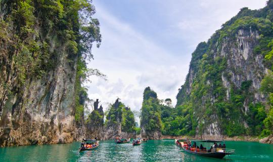
MULTIPOLYGON (((175 144, 181 148, 183 148, 184 151, 197 154, 201 156, 207 156, 207 157, 214 157, 214 158, 223 158, 225 155, 231 155, 235 153, 235 149, 228 149, 228 148, 211 148, 211 146, 214 143, 223 143, 223 141, 217 141, 217 140, 177 140, 175 139, 175 144), (192 142, 194 144, 192 145, 192 142), (203 149, 200 149, 199 146, 201 146, 203 149), (194 147, 191 147, 194 146, 194 147), (198 146, 198 147, 197 147, 198 146), (204 147, 206 146, 206 147, 204 147), (210 149, 207 149, 210 148, 210 149)), ((225 147, 225 145, 224 145, 225 147)))

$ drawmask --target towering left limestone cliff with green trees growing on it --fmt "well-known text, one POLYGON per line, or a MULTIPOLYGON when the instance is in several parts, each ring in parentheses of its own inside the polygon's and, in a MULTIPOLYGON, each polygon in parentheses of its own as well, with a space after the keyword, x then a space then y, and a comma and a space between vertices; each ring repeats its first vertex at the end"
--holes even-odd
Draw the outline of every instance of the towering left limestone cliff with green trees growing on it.
MULTIPOLYGON (((92 34, 81 41, 79 11, 94 8, 87 1, 78 3, 0 1, 0 146, 78 137, 75 96, 76 73, 84 67, 81 50, 100 42, 100 35, 92 34)), ((99 32, 99 24, 92 25, 99 32)))

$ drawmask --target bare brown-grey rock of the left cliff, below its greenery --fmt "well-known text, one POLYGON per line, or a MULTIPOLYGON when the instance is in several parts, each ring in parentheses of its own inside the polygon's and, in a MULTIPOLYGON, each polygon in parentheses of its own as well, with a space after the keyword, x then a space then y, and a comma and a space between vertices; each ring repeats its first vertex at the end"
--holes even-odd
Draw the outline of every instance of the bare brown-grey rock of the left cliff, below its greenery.
POLYGON ((72 142, 74 123, 74 85, 76 60, 68 61, 68 53, 53 35, 48 38, 51 51, 58 53, 57 65, 41 78, 25 80, 17 87, 13 64, 2 66, 0 93, 0 145, 72 142), (9 89, 4 88, 10 87, 9 89))

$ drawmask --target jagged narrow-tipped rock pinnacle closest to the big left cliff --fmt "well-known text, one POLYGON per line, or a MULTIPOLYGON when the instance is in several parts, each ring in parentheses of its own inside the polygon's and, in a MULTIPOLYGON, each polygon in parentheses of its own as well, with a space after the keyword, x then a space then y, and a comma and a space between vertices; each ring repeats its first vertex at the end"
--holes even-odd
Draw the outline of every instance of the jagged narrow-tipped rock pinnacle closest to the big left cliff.
POLYGON ((86 121, 85 137, 89 139, 104 139, 104 112, 103 107, 99 107, 99 99, 94 102, 94 111, 88 116, 86 121))

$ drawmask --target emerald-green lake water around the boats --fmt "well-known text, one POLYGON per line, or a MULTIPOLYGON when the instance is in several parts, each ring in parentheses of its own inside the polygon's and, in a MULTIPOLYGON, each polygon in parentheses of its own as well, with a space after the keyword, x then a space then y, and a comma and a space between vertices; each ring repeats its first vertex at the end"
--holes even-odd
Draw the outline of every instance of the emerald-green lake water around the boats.
POLYGON ((139 146, 101 141, 92 151, 78 153, 80 142, 0 148, 0 161, 273 161, 273 145, 226 141, 236 154, 223 159, 184 152, 174 140, 150 140, 139 146))

